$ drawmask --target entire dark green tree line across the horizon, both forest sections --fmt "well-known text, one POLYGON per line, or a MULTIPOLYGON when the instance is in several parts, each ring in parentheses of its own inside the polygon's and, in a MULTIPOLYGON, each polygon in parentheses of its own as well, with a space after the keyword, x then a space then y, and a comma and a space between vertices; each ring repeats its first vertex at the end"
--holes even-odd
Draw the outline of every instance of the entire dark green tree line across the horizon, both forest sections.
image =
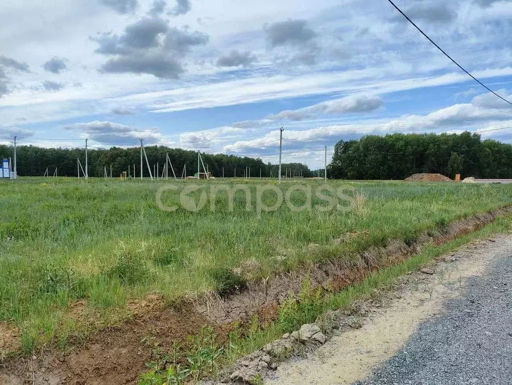
MULTIPOLYGON (((181 177, 186 165, 186 175, 197 172, 197 152, 172 149, 165 146, 145 147, 152 168, 159 164, 160 174, 166 154, 172 161, 176 176, 181 177)), ((0 145, 0 158, 12 157, 12 146, 0 145)), ((226 154, 201 154, 205 167, 212 176, 243 177, 250 168, 251 177, 278 177, 278 165, 265 164, 260 158, 226 154)), ((20 176, 42 176, 48 168, 53 175, 77 176, 77 158, 85 167, 85 151, 79 149, 17 147, 17 169, 20 176)), ((88 151, 89 176, 102 177, 104 168, 110 175, 119 176, 123 171, 140 175, 140 149, 112 147, 88 151)), ((321 176, 323 170, 310 170, 301 163, 282 165, 291 176, 321 176)), ((201 166, 201 172, 202 166, 201 166)), ((512 146, 497 140, 482 140, 477 133, 461 134, 389 134, 368 135, 358 140, 340 140, 327 167, 333 179, 404 179, 416 173, 440 173, 451 178, 462 177, 512 178, 512 146)), ((149 176, 144 159, 144 176, 149 176)), ((169 176, 172 173, 169 169, 169 176)))

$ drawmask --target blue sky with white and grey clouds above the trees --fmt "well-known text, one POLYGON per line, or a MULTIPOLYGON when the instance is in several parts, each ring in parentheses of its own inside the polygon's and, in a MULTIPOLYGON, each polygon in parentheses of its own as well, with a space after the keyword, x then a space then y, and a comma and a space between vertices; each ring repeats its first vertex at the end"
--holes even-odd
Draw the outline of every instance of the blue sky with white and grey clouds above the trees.
MULTIPOLYGON (((396 0, 512 100, 512 1, 396 0)), ((512 106, 387 0, 2 0, 0 144, 164 145, 323 168, 338 140, 479 132, 512 106), (23 20, 23 23, 20 22, 23 20)))

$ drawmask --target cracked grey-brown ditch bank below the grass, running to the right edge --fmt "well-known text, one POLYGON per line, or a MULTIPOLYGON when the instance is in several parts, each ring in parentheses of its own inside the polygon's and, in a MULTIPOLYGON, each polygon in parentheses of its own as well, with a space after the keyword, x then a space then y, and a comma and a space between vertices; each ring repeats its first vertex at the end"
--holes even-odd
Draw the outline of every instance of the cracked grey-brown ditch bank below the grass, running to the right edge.
POLYGON ((359 258, 354 258, 353 262, 334 260, 302 272, 270 278, 224 300, 203 299, 197 303, 196 309, 211 322, 229 323, 248 319, 252 314, 259 314, 263 320, 275 319, 279 305, 289 295, 299 293, 308 277, 314 287, 321 285, 328 291, 337 292, 364 280, 375 270, 406 260, 430 242, 442 245, 458 236, 480 229, 499 216, 511 213, 512 206, 477 214, 452 222, 437 234, 425 233, 410 246, 401 240, 394 240, 385 248, 370 248, 359 258))

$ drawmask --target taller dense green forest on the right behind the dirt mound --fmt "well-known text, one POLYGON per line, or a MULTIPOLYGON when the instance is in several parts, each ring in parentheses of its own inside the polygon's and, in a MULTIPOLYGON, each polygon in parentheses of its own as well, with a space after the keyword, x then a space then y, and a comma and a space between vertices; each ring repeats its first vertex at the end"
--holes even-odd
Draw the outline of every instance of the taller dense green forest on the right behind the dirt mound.
POLYGON ((481 140, 479 134, 368 135, 340 140, 328 177, 404 179, 415 173, 440 173, 451 178, 512 178, 512 146, 481 140))

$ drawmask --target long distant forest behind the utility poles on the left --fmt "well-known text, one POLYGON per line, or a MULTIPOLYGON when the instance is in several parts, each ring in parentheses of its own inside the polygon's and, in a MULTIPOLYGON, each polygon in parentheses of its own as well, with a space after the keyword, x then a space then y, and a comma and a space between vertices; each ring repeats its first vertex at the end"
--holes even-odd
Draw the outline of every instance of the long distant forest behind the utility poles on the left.
MULTIPOLYGON (((186 175, 190 176, 197 173, 197 152, 170 149, 163 146, 145 147, 147 159, 153 172, 153 166, 159 165, 161 175, 162 166, 165 164, 166 154, 169 154, 170 161, 173 164, 176 176, 180 178, 183 168, 186 165, 186 175)), ((80 159, 82 167, 85 167, 85 150, 81 149, 61 149, 61 148, 40 148, 34 146, 19 146, 16 150, 17 169, 19 176, 42 176, 48 168, 48 173, 53 175, 55 168, 59 176, 77 176, 77 158, 80 159)), ((12 146, 0 146, 0 158, 12 157, 12 146)), ((240 157, 225 154, 202 154, 204 166, 208 168, 212 176, 221 177, 224 168, 225 177, 233 177, 236 172, 237 177, 243 177, 250 168, 251 177, 259 177, 260 169, 262 177, 278 177, 278 165, 265 164, 259 158, 240 157)), ((112 147, 109 150, 88 151, 89 176, 103 177, 106 168, 110 175, 112 166, 112 175, 119 176, 123 171, 128 171, 133 176, 133 166, 135 165, 135 175, 140 176, 140 149, 129 148, 122 149, 112 147)), ((285 170, 291 170, 291 175, 312 176, 312 172, 305 165, 299 163, 283 164, 283 176, 285 170)), ((203 172, 201 166, 201 172, 203 172)), ((169 176, 173 174, 169 168, 169 176)), ((248 172, 247 172, 248 174, 248 172)), ((144 176, 149 176, 144 159, 144 176)))

